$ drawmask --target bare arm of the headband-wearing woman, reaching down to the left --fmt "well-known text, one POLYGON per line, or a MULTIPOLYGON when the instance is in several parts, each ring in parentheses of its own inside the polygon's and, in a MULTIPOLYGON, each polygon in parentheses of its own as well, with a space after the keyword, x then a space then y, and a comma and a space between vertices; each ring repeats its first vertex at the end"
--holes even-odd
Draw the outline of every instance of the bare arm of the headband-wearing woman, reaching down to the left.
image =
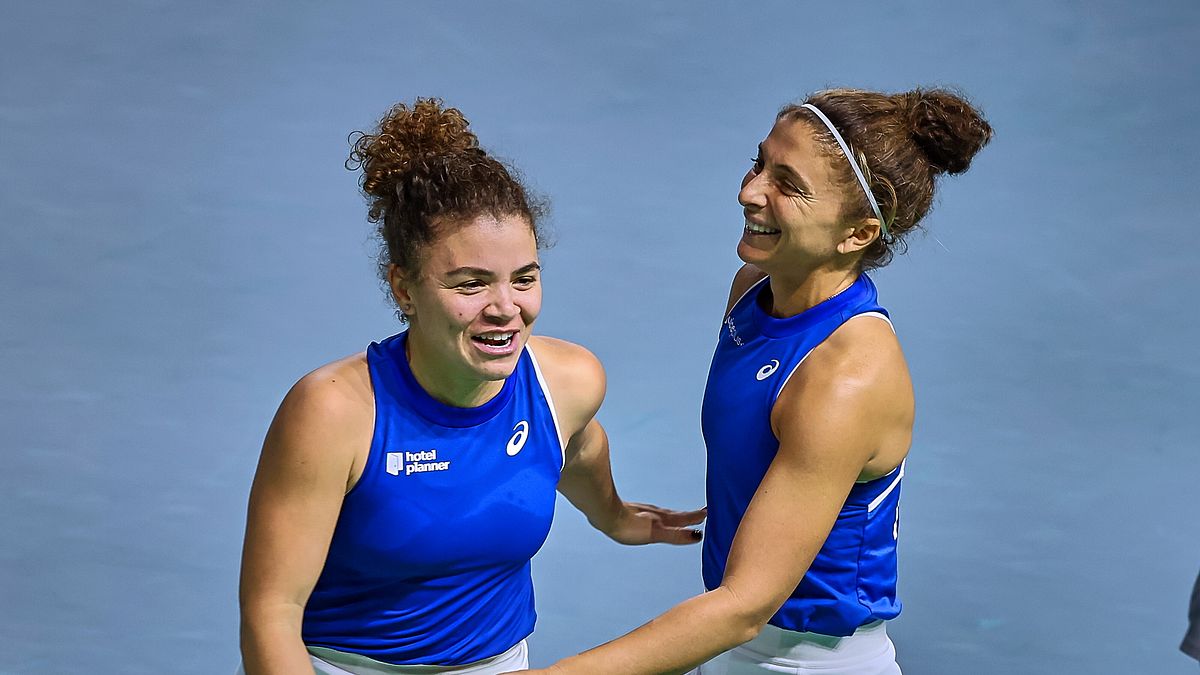
POLYGON ((889 352, 888 340, 894 345, 878 325, 854 325, 818 347, 785 388, 772 414, 779 453, 738 527, 718 589, 548 671, 684 673, 757 635, 804 577, 880 438, 905 423, 890 398, 906 384, 906 370, 896 382, 892 359, 899 351, 889 352), (841 348, 846 340, 856 348, 841 348), (856 357, 864 352, 870 360, 856 357))

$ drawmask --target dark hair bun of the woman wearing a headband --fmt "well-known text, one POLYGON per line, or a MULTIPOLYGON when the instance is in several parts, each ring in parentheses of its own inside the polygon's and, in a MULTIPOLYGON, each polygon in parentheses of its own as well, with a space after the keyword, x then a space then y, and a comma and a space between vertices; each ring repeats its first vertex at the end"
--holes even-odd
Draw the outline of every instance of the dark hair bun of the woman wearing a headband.
POLYGON ((991 141, 991 126, 961 96, 944 89, 899 94, 913 141, 938 173, 967 171, 991 141))

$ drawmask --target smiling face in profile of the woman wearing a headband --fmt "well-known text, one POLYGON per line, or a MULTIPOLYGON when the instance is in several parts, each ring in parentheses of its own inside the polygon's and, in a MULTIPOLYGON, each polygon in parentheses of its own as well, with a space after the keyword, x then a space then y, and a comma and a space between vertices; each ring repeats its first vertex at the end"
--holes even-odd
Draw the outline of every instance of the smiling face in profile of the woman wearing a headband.
POLYGON ((860 249, 854 225, 841 220, 845 190, 832 162, 808 123, 775 123, 742 179, 745 228, 738 257, 772 276, 788 276, 844 265, 845 256, 860 249))

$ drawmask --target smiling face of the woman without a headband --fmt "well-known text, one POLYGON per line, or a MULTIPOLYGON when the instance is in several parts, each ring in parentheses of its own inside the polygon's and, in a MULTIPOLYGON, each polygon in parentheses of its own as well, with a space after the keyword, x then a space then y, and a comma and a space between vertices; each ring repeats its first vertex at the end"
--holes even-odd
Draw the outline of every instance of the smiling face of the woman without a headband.
POLYGON ((512 374, 541 311, 533 228, 520 216, 450 223, 412 276, 389 274, 410 323, 413 375, 443 402, 486 401, 512 374))

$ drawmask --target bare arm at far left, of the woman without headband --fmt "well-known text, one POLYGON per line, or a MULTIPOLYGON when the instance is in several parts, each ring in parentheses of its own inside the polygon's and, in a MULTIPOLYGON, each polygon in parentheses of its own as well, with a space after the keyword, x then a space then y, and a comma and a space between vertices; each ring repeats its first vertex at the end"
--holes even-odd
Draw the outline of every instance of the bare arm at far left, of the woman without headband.
POLYGON ((313 671, 300 637, 304 607, 342 497, 361 471, 359 446, 371 440, 373 407, 364 404, 373 404, 362 398, 360 380, 347 362, 306 376, 266 434, 250 495, 239 592, 248 675, 313 671))

